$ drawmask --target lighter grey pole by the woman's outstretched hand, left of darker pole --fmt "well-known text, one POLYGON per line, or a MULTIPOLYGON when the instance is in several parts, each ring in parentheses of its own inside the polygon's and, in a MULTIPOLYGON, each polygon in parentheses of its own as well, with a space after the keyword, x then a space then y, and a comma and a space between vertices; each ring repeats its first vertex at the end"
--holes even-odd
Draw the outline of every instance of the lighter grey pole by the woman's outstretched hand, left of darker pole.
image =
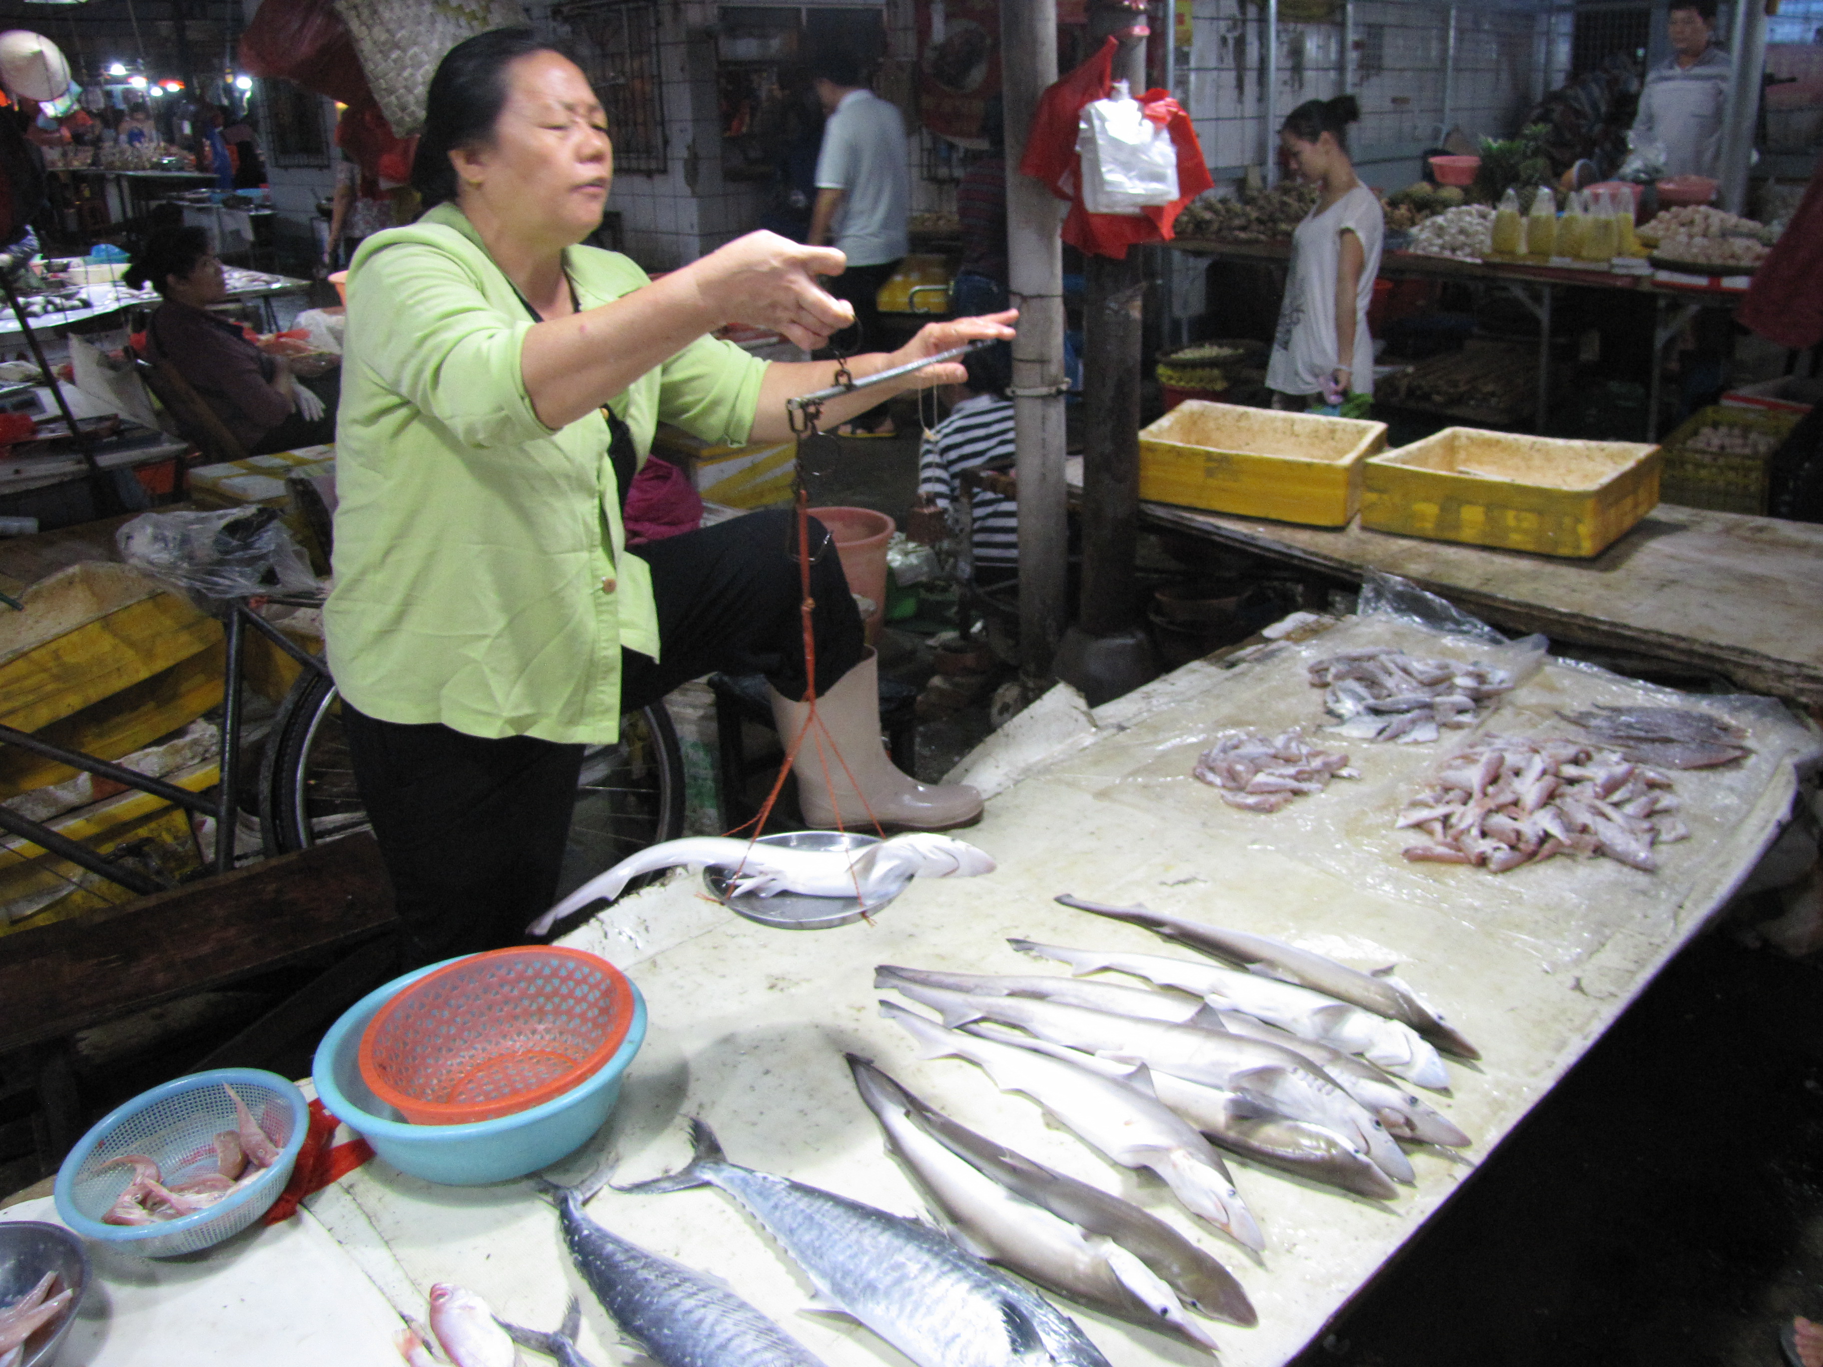
POLYGON ((1039 95, 1057 80, 1057 2, 1003 0, 1006 108, 1006 275, 1014 339, 1014 465, 1019 476, 1019 669, 1050 678, 1063 636, 1068 490, 1063 479, 1063 204, 1019 173, 1039 95))

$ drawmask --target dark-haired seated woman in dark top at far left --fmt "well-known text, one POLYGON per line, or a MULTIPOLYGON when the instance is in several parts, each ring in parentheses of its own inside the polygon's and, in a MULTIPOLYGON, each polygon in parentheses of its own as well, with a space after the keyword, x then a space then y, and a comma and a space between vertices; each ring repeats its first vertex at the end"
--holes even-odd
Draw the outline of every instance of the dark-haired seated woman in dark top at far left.
POLYGON ((206 231, 155 230, 124 281, 164 295, 146 324, 146 354, 190 381, 248 456, 335 439, 335 405, 253 346, 241 324, 208 312, 228 297, 228 281, 206 231))

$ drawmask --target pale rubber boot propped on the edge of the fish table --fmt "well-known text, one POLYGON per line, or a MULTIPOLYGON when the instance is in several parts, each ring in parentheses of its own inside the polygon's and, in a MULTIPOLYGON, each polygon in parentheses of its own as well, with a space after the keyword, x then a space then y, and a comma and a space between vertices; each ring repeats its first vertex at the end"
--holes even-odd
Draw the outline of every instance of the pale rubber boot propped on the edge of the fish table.
MULTIPOLYGON (((809 704, 791 702, 778 689, 771 689, 771 696, 778 738, 789 749, 804 727, 809 704)), ((966 784, 921 784, 901 773, 886 755, 886 745, 881 742, 881 669, 873 651, 868 651, 859 665, 817 700, 817 716, 822 725, 811 724, 793 766, 798 780, 798 811, 804 813, 808 826, 829 829, 840 817, 846 829, 864 831, 871 824, 871 820, 888 831, 946 831, 981 817, 981 793, 975 789, 966 784), (831 753, 831 740, 842 755, 840 762, 831 753), (850 775, 855 778, 853 784, 850 775), (855 791, 857 784, 860 793, 855 791)))

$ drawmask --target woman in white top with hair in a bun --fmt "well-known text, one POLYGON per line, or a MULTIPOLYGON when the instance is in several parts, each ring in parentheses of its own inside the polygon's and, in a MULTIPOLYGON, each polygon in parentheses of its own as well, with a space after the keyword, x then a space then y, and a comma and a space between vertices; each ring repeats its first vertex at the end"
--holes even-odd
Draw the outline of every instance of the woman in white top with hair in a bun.
POLYGON ((1303 180, 1323 188, 1291 239, 1291 270, 1265 383, 1276 406, 1365 414, 1373 396, 1367 304, 1380 273, 1385 217, 1354 177, 1347 128, 1360 118, 1353 95, 1307 100, 1278 131, 1280 149, 1303 180))

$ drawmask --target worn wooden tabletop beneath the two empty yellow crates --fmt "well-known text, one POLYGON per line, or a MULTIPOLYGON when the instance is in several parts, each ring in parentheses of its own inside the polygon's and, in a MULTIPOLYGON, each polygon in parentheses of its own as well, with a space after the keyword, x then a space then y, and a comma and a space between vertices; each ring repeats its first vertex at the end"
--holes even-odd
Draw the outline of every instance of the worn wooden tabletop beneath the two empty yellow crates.
MULTIPOLYGON (((1079 488, 1079 485, 1077 485, 1079 488)), ((1661 503, 1593 560, 1486 550, 1141 503, 1174 527, 1298 569, 1400 574, 1502 629, 1699 665, 1823 707, 1823 527, 1661 503)))

